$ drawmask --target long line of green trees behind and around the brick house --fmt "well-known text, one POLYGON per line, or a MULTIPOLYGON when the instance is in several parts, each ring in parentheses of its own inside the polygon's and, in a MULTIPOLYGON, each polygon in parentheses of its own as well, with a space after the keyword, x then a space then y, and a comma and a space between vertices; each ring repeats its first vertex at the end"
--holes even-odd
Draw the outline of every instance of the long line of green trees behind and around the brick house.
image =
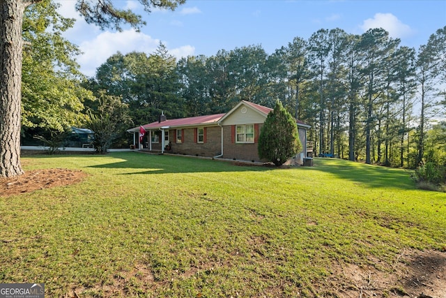
POLYGON ((446 27, 416 50, 383 29, 321 29, 271 54, 249 45, 179 61, 160 44, 149 55, 114 54, 81 84, 79 50, 60 34, 72 20, 50 3, 24 22, 33 44, 24 50, 24 135, 98 127, 105 118, 102 126, 121 130, 115 146, 128 146, 125 128, 161 112, 174 119, 227 112, 240 100, 269 107, 281 100, 312 126, 316 154, 398 167, 446 164, 445 124, 433 121, 445 116, 446 27))

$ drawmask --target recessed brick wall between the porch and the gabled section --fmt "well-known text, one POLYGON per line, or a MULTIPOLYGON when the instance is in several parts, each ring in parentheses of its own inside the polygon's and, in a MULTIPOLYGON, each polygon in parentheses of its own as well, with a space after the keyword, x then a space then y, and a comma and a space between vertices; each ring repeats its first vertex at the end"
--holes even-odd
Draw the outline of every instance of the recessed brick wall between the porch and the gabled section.
POLYGON ((171 151, 173 154, 214 157, 222 153, 222 128, 220 126, 205 127, 205 142, 197 143, 195 130, 197 128, 183 129, 183 142, 176 142, 176 130, 169 131, 171 151))

